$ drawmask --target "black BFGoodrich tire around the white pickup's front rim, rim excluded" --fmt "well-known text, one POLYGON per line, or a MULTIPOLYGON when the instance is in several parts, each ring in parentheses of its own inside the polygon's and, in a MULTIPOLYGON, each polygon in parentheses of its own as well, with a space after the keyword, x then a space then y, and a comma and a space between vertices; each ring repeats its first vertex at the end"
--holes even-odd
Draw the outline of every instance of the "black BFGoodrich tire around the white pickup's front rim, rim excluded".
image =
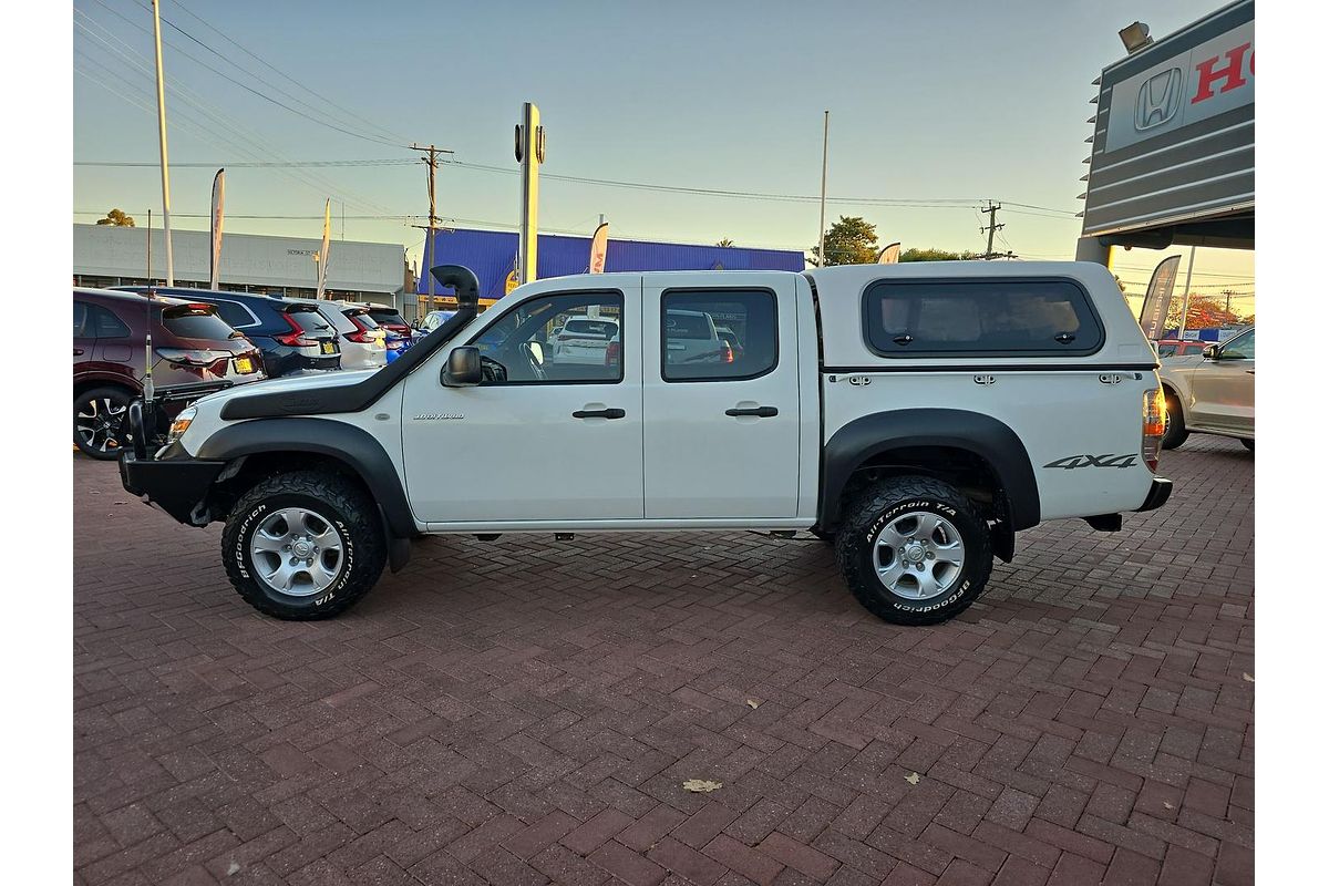
POLYGON ((222 531, 222 562, 231 584, 259 612, 291 622, 340 615, 369 592, 388 559, 373 499, 332 472, 298 470, 259 481, 231 507, 222 531), (263 518, 280 507, 304 507, 327 519, 343 539, 343 557, 331 586, 310 596, 268 587, 258 575, 250 542, 263 518))

